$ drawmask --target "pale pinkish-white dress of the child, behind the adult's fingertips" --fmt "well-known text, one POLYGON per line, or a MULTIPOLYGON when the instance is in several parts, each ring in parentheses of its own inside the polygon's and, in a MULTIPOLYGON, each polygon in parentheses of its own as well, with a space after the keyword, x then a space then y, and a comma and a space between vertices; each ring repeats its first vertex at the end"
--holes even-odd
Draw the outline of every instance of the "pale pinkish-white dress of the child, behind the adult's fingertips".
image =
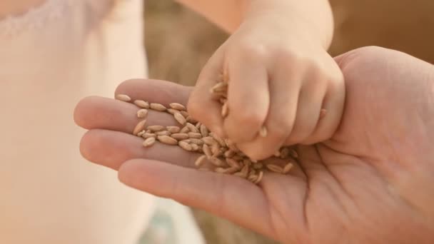
POLYGON ((0 19, 0 243, 131 244, 145 230, 157 198, 85 161, 73 121, 81 98, 146 77, 142 1, 47 0, 0 19))

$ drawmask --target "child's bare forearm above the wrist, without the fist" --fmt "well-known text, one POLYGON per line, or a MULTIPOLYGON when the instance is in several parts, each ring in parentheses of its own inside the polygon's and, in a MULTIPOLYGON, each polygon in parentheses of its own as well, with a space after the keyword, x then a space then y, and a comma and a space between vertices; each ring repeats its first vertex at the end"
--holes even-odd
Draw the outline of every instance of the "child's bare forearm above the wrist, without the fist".
POLYGON ((276 29, 305 31, 328 49, 333 38, 333 14, 328 0, 177 0, 226 31, 243 21, 273 19, 276 29))

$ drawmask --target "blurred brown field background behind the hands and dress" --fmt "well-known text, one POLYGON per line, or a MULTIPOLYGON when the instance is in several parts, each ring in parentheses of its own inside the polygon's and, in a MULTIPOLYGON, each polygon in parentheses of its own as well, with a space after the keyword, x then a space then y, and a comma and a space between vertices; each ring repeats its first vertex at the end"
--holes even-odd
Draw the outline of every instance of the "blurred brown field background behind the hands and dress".
MULTIPOLYGON (((434 63, 434 1, 330 0, 335 37, 330 54, 383 46, 434 63)), ((150 78, 193 86, 201 67, 228 37, 171 0, 146 1, 145 45, 150 78)), ((210 244, 273 243, 201 210, 193 210, 210 244)), ((252 213, 254 214, 254 213, 252 213)))

